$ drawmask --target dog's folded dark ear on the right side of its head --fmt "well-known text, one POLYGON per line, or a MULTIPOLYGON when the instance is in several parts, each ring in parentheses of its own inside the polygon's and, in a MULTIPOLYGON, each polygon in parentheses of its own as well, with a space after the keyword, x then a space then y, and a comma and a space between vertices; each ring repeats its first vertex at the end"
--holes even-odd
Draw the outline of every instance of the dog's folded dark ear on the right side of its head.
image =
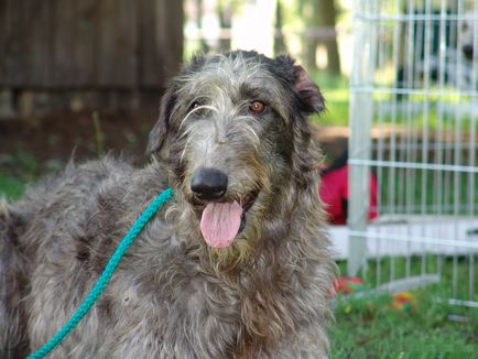
POLYGON ((298 96, 303 112, 311 115, 322 112, 325 109, 325 101, 321 90, 304 67, 298 65, 294 66, 294 89, 298 96))

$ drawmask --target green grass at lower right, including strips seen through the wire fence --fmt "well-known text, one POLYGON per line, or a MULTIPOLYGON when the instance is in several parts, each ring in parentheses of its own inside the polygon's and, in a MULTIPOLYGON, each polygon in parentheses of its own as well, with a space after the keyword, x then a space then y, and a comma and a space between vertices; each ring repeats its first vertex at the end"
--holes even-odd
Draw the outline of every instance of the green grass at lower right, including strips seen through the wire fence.
MULTIPOLYGON (((369 289, 390 280, 392 263, 395 279, 405 275, 405 258, 383 258, 379 281, 378 263, 370 261, 362 273, 369 289)), ((345 271, 347 263, 340 261, 338 265, 345 271)), ((426 255, 422 262, 421 257, 412 257, 410 274, 419 275, 422 269, 425 273, 441 272, 442 279, 439 283, 411 292, 411 311, 393 309, 390 295, 367 294, 367 291, 363 297, 339 295, 336 324, 329 331, 332 358, 478 358, 478 309, 446 304, 449 297, 469 298, 468 280, 464 280, 469 275, 468 259, 426 255), (454 268, 461 279, 457 281, 456 293, 453 293, 454 268), (450 315, 466 323, 452 322, 450 315)), ((476 264, 474 275, 478 278, 476 264)), ((475 283, 472 301, 478 301, 477 290, 475 283)))

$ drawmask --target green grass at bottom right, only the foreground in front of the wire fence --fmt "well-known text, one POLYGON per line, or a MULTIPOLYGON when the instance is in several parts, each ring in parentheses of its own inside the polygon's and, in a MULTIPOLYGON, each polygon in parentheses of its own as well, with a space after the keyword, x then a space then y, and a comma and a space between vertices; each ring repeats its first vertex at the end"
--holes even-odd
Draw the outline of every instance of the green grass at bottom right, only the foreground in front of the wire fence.
POLYGON ((329 330, 332 358, 476 358, 478 311, 436 303, 435 294, 413 292, 410 312, 393 309, 390 296, 340 298, 329 330), (450 314, 467 323, 449 320, 450 314))

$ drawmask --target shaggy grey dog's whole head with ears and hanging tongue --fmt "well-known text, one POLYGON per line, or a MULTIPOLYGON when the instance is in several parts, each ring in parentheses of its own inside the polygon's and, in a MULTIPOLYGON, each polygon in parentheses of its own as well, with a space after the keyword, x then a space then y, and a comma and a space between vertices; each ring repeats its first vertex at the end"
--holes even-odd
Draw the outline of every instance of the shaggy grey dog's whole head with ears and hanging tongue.
POLYGON ((209 247, 250 246, 290 185, 307 186, 316 154, 306 116, 323 108, 289 56, 195 57, 164 95, 148 151, 172 165, 209 247))

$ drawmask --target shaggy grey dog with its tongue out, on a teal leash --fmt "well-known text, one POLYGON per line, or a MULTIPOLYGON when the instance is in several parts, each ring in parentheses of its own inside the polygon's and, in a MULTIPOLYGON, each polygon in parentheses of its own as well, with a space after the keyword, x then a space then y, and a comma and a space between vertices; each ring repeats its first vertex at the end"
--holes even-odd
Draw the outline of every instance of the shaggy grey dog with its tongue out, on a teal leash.
POLYGON ((0 352, 45 344, 162 189, 99 302, 51 358, 324 358, 335 264, 289 56, 196 56, 162 99, 151 162, 70 164, 0 206, 0 352))

